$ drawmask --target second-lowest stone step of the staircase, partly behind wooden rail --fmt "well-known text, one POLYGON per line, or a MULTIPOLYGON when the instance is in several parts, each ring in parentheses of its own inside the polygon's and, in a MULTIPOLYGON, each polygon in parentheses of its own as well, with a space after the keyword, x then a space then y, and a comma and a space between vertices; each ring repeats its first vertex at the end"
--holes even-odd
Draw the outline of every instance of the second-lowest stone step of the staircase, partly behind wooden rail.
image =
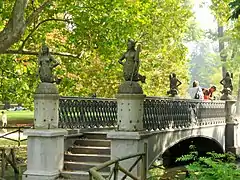
MULTIPOLYGON (((100 165, 101 163, 96 162, 70 162, 64 161, 64 170, 79 170, 79 171, 89 171, 90 168, 100 165)), ((110 167, 106 167, 101 172, 110 172, 110 167)))

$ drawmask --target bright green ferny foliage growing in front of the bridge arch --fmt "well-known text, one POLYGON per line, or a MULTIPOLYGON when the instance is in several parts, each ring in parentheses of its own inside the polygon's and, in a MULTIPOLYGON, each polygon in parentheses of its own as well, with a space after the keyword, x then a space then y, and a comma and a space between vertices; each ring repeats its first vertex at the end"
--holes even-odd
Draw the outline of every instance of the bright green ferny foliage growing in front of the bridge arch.
POLYGON ((180 162, 193 161, 186 166, 188 180, 235 180, 240 179, 240 170, 235 164, 232 153, 217 154, 208 152, 206 157, 199 157, 195 149, 190 154, 177 159, 180 162))

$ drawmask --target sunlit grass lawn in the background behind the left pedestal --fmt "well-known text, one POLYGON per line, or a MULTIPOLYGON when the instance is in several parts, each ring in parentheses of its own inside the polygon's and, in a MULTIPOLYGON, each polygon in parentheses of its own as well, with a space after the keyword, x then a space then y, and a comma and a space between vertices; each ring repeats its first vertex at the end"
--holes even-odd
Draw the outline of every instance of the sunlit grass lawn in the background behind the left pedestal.
POLYGON ((5 111, 8 117, 8 124, 32 124, 34 119, 33 111, 5 111))

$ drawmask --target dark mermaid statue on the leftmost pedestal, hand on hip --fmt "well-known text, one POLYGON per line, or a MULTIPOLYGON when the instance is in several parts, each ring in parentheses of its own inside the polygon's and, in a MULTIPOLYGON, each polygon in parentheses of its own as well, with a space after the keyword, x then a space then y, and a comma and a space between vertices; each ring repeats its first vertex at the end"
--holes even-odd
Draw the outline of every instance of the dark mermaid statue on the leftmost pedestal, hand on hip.
POLYGON ((38 75, 40 80, 45 83, 59 84, 61 79, 53 75, 53 69, 59 65, 59 62, 50 54, 49 48, 46 45, 42 46, 42 50, 38 57, 38 75))

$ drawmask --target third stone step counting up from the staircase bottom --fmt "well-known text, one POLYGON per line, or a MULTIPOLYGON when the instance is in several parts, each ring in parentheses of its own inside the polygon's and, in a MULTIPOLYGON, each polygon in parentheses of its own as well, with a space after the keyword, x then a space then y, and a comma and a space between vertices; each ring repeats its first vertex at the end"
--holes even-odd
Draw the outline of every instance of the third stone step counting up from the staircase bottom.
POLYGON ((72 162, 98 162, 103 163, 111 159, 110 155, 103 154, 65 154, 64 161, 72 162))

